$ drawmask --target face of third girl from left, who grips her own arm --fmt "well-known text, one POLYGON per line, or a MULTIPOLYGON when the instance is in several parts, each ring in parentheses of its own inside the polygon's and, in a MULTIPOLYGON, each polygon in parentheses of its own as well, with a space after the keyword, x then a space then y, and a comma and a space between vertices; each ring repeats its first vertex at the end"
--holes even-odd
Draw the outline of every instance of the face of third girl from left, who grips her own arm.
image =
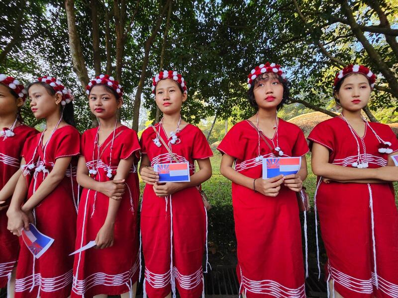
POLYGON ((104 85, 99 84, 91 88, 89 105, 91 112, 100 119, 109 119, 116 115, 123 101, 116 99, 116 96, 104 85))

